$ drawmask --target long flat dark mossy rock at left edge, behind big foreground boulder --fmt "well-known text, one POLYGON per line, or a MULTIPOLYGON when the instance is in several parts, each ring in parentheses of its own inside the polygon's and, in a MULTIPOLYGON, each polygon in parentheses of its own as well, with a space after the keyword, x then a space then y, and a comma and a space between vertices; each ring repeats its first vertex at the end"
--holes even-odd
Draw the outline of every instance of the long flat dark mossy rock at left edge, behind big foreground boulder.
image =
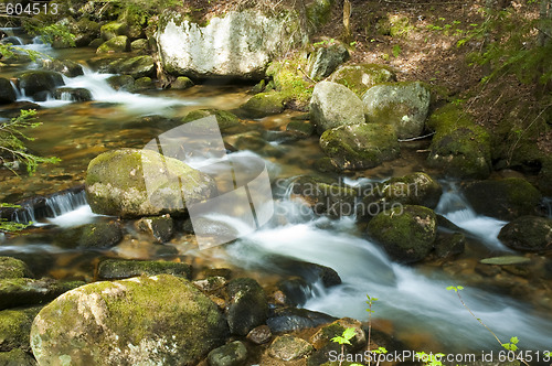
POLYGON ((57 282, 50 279, 14 278, 0 280, 0 310, 44 304, 84 282, 57 282))

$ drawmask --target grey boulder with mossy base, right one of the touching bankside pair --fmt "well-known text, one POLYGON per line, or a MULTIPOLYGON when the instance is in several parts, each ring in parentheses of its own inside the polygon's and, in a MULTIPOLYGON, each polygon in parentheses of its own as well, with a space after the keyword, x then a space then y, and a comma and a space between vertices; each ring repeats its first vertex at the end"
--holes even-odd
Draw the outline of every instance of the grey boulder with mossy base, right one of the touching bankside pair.
POLYGON ((420 82, 382 83, 362 96, 367 121, 392 125, 400 139, 422 134, 429 101, 429 90, 420 82))

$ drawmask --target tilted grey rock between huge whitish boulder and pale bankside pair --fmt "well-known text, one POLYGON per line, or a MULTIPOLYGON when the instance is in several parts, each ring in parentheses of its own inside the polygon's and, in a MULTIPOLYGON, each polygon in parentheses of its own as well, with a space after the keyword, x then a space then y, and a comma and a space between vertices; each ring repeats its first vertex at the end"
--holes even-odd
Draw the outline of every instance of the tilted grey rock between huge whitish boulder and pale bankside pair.
POLYGON ((319 82, 330 76, 349 57, 349 51, 341 43, 318 47, 308 56, 307 73, 312 80, 319 82))

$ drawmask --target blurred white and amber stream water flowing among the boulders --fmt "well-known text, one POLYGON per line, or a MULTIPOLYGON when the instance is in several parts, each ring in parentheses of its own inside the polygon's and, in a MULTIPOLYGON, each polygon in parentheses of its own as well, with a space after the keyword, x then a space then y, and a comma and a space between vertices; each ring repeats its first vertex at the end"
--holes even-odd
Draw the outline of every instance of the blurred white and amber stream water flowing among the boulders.
MULTIPOLYGON (((29 47, 55 54, 36 40, 29 47)), ((82 57, 94 55, 75 55, 74 51, 70 51, 65 56, 82 62, 82 57)), ((8 69, 4 75, 11 72, 8 69)), ((106 82, 108 76, 86 67, 85 75, 65 78, 70 87, 89 89, 93 101, 39 103, 42 107, 39 117, 43 126, 30 132, 36 138, 30 147, 38 154, 61 158, 62 163, 42 165, 33 176, 15 176, 8 171, 0 171, 0 202, 20 202, 34 195, 47 195, 43 212, 38 213, 28 206, 13 217, 19 222, 32 220, 36 224, 26 236, 0 237, 0 255, 26 260, 36 273, 86 280, 94 279, 94 266, 103 257, 160 258, 166 256, 164 251, 159 250, 160 247, 172 247, 174 250, 171 255, 188 258, 184 260, 194 263, 231 266, 247 274, 261 273, 252 274, 261 279, 278 272, 272 259, 288 257, 328 266, 342 279, 341 286, 331 289, 315 286, 305 304, 307 309, 364 321, 368 319, 364 301, 369 293, 380 299, 374 305, 374 317, 391 323, 386 326, 391 326, 401 340, 412 346, 447 352, 496 348, 492 335, 471 317, 453 292, 446 290, 448 286, 463 284, 458 281, 466 279, 465 273, 428 263, 416 267, 397 265, 363 234, 364 229, 355 223, 354 217, 317 217, 289 198, 285 183, 289 180, 278 179, 315 174, 314 162, 321 157, 316 138, 293 142, 280 139, 293 114, 248 122, 250 129, 262 131, 270 141, 269 153, 266 152, 268 150, 235 153, 265 159, 272 180, 278 182, 275 184, 276 214, 259 230, 233 244, 203 251, 193 246, 193 238, 183 235, 177 236, 166 246, 155 246, 127 235, 123 244, 107 251, 63 249, 54 245, 56 233, 61 229, 106 219, 92 213, 82 191, 56 194, 82 184, 86 166, 93 158, 116 148, 142 148, 159 133, 174 127, 166 123, 168 118, 179 118, 199 108, 232 109, 247 98, 247 87, 227 85, 201 85, 183 92, 159 90, 148 94, 116 92, 106 82)), ((22 101, 30 100, 24 90, 19 90, 19 98, 22 101)), ((427 171, 423 163, 424 157, 416 149, 416 146, 405 144, 402 159, 364 174, 344 177, 343 182, 362 185, 393 175, 427 171)), ((468 263, 479 258, 511 254, 497 239, 500 228, 507 223, 477 215, 459 193, 457 182, 442 183, 445 193, 436 212, 463 228, 469 237, 460 261, 468 263)), ((550 206, 550 201, 546 203, 550 206)), ((220 219, 240 229, 233 217, 220 219)), ((127 229, 136 234, 131 227, 127 226, 127 229)), ((477 278, 478 274, 470 276, 477 278)), ((550 306, 539 306, 534 299, 516 298, 505 293, 503 289, 488 287, 486 281, 474 283, 461 295, 477 316, 502 341, 517 335, 526 349, 552 347, 550 306)))

